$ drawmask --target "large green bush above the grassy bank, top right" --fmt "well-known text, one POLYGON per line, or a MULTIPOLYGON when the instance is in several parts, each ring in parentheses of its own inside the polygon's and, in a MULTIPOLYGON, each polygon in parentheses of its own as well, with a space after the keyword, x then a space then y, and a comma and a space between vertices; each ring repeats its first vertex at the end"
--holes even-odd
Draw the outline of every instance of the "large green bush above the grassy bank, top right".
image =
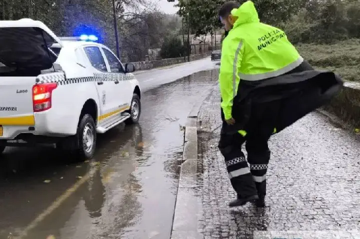
POLYGON ((311 1, 278 25, 293 43, 333 43, 360 37, 360 2, 311 1))

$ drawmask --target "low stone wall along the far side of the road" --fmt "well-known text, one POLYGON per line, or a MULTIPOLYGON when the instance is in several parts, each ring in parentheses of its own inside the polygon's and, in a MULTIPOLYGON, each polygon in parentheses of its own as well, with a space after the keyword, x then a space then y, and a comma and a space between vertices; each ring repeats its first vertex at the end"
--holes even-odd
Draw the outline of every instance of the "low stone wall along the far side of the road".
MULTIPOLYGON (((197 60, 209 56, 210 52, 204 54, 196 54, 190 55, 190 61, 197 60)), ((172 64, 178 64, 187 61, 186 57, 177 57, 177 58, 168 58, 168 59, 158 59, 158 60, 149 60, 149 61, 138 61, 138 62, 130 62, 135 65, 136 70, 146 70, 152 69, 172 64)))

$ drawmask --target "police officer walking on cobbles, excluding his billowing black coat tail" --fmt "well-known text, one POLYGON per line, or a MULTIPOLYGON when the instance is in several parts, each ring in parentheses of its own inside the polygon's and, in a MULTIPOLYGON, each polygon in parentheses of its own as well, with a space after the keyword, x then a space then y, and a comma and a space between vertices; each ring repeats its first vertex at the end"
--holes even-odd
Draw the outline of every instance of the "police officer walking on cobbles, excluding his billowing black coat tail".
POLYGON ((252 1, 241 5, 234 1, 225 2, 218 13, 225 30, 229 31, 221 49, 219 85, 223 124, 218 144, 231 185, 237 193, 229 206, 255 201, 258 207, 263 207, 270 158, 267 141, 276 132, 275 116, 280 106, 263 103, 252 107, 246 127, 229 133, 227 129, 237 123, 232 108, 234 99, 241 94, 239 91, 256 87, 264 80, 312 70, 312 67, 282 30, 259 21, 252 1), (245 141, 249 167, 241 151, 245 141))

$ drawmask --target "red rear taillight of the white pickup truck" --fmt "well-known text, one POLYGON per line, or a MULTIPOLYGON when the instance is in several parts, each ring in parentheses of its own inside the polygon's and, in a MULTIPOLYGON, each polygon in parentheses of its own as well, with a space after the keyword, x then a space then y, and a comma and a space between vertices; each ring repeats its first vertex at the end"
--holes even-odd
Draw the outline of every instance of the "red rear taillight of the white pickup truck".
POLYGON ((42 83, 32 86, 32 105, 34 112, 40 112, 51 108, 52 90, 57 83, 42 83))

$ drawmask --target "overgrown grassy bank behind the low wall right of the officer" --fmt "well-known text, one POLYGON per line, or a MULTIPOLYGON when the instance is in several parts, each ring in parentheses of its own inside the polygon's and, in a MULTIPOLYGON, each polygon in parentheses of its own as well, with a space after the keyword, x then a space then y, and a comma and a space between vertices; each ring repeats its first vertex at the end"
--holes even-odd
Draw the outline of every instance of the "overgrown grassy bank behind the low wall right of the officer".
POLYGON ((360 81, 360 39, 334 44, 298 44, 296 47, 315 68, 333 70, 344 80, 360 81))

